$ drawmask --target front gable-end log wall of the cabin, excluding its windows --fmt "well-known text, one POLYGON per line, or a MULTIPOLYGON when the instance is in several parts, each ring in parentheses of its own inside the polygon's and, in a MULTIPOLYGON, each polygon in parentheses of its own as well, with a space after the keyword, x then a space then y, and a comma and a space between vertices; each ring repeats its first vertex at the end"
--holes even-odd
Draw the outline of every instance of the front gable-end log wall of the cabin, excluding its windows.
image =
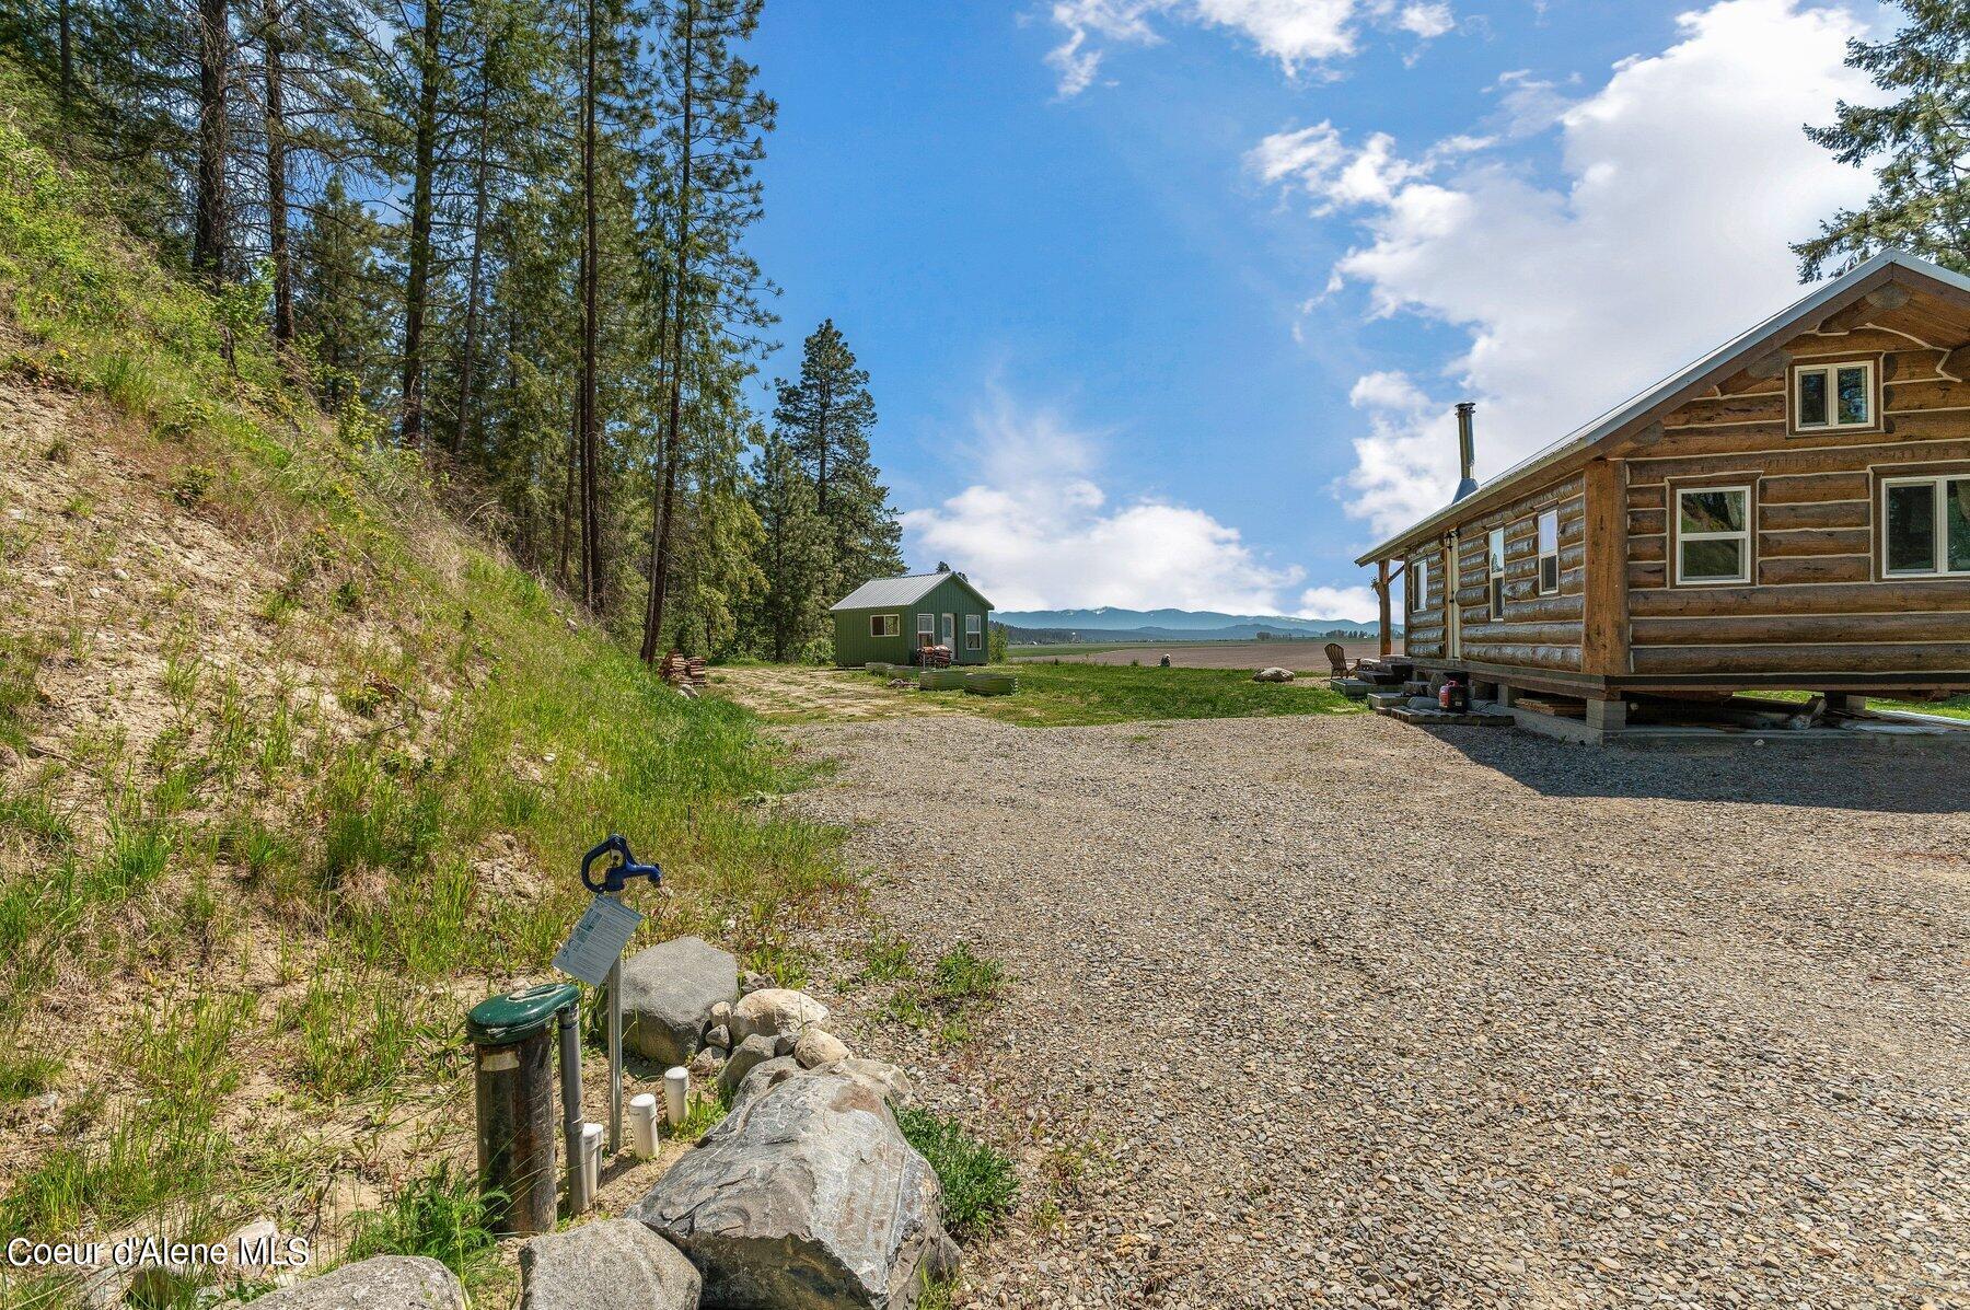
POLYGON ((1942 368, 1970 321, 1931 309, 1923 325, 1940 335, 1860 327, 1779 347, 1793 364, 1873 360, 1873 429, 1797 433, 1785 372, 1682 404, 1623 461, 1631 674, 1970 678, 1970 579, 1879 569, 1881 479, 1970 475, 1970 382, 1942 368), (1678 485, 1751 489, 1751 585, 1676 585, 1678 485))

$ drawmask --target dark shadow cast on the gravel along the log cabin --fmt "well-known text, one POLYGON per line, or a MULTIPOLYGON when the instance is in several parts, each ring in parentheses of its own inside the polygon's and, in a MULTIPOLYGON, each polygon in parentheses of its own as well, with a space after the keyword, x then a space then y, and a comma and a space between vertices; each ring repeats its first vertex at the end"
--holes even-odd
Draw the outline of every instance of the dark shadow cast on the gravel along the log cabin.
POLYGON ((1970 810, 1970 756, 1911 741, 1905 749, 1757 747, 1749 737, 1700 751, 1580 747, 1531 733, 1426 727, 1472 762, 1543 796, 1740 802, 1877 814, 1970 810))

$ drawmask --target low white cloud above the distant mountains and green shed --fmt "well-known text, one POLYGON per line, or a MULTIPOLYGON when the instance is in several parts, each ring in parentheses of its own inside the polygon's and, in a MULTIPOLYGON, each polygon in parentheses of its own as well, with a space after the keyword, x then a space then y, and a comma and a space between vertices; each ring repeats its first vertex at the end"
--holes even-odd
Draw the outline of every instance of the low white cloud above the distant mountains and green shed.
MULTIPOLYGON (((950 559, 1001 609, 1280 613, 1280 597, 1304 577, 1298 567, 1269 565, 1204 510, 1149 496, 1111 502, 1093 481, 1101 439, 995 392, 973 416, 977 481, 904 512, 912 554, 950 559)), ((1351 593, 1332 595, 1359 609, 1351 593)))

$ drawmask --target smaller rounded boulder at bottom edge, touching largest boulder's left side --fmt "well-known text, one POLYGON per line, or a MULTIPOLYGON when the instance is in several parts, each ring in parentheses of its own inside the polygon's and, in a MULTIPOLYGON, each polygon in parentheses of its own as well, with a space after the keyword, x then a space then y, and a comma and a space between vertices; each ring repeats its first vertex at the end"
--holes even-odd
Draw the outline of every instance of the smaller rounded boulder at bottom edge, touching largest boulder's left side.
POLYGON ((597 1219, 520 1247, 520 1310, 697 1310, 703 1280, 634 1219, 597 1219))

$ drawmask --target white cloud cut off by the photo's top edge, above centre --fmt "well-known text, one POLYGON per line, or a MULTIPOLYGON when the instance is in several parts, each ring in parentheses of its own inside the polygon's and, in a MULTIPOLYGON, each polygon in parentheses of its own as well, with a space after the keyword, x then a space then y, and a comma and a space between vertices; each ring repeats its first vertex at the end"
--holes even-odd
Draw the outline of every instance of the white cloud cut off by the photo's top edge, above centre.
POLYGON ((1046 55, 1062 97, 1093 85, 1103 49, 1154 45, 1158 18, 1223 28, 1277 59, 1286 75, 1355 51, 1363 22, 1407 32, 1420 41, 1456 28, 1448 4, 1397 6, 1395 0, 1054 0, 1054 24, 1066 37, 1046 55))

